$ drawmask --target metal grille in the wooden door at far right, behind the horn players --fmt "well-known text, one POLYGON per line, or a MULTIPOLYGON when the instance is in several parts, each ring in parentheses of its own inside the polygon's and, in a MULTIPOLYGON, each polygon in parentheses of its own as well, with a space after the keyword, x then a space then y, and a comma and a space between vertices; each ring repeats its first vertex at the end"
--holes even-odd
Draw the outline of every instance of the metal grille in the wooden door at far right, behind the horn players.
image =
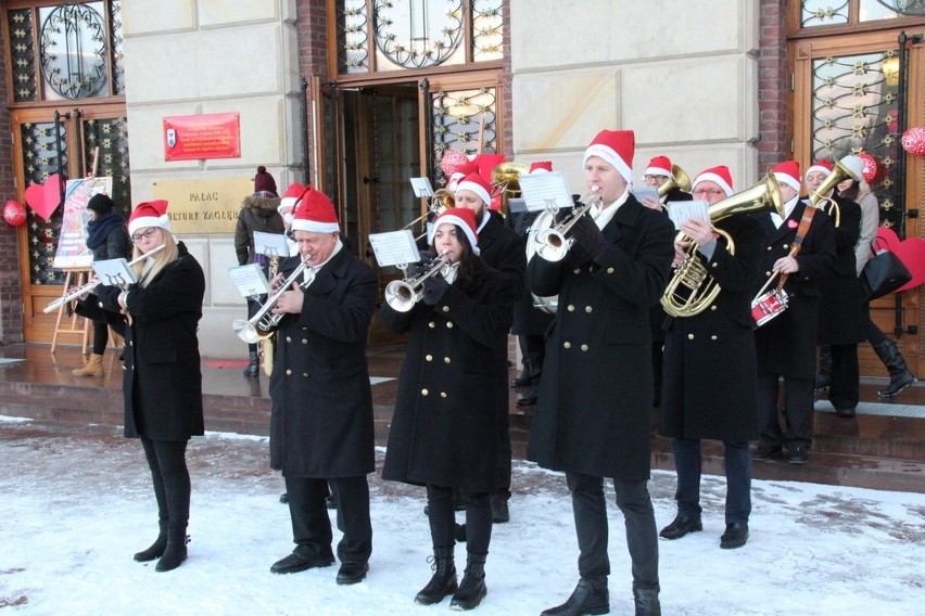
POLYGON ((866 153, 877 162, 871 189, 880 206, 880 226, 895 227, 898 75, 897 52, 844 55, 813 61, 812 157, 839 159, 866 153), (886 66, 885 66, 886 65, 886 66))

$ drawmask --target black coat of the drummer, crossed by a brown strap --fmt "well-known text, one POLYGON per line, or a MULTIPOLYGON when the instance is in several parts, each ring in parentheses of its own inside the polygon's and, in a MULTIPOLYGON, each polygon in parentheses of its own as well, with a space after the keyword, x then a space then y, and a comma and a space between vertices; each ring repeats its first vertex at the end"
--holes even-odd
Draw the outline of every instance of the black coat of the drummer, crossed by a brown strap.
MULTIPOLYGON (((753 285, 757 295, 772 275, 772 267, 786 257, 797 235, 803 210, 812 207, 797 202, 794 210, 781 224, 774 226, 770 214, 756 215, 765 232, 764 253, 753 285)), ((787 309, 755 331, 758 368, 794 378, 815 376, 815 347, 819 329, 821 281, 835 271, 835 233, 832 219, 816 210, 797 255, 799 271, 787 277, 787 309)), ((777 279, 769 286, 773 288, 777 279)))

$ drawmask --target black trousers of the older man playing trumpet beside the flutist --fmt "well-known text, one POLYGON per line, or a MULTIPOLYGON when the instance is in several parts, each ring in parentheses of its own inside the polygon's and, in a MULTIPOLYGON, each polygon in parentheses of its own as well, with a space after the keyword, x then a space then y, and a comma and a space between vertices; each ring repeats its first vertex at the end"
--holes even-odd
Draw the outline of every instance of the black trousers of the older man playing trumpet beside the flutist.
POLYGON ((295 553, 307 559, 333 556, 331 519, 325 502, 330 485, 338 501, 338 529, 343 532, 338 543, 338 560, 341 563, 369 561, 372 553, 372 524, 369 521, 369 484, 366 475, 334 479, 284 479, 295 553))

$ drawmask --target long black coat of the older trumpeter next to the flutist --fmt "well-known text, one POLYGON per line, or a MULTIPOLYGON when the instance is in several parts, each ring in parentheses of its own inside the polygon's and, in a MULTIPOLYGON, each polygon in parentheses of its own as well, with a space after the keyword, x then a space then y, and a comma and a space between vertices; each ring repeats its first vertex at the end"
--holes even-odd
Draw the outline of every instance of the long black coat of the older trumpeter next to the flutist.
MULTIPOLYGON (((282 261, 283 277, 300 262, 282 261)), ((283 476, 373 471, 366 341, 377 294, 372 269, 342 248, 305 290, 302 312, 280 321, 269 384, 270 466, 283 476)))

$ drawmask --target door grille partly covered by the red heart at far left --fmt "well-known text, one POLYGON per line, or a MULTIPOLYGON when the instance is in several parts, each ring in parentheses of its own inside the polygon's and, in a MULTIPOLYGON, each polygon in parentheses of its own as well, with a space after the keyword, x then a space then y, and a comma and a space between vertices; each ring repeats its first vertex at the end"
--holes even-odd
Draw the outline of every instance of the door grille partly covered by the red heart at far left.
MULTIPOLYGON (((61 124, 62 159, 58 159, 54 123, 23 124, 20 137, 23 144, 23 175, 26 185, 43 184, 52 174, 67 168, 67 125, 61 124)), ((64 284, 61 270, 51 264, 61 235, 61 208, 48 220, 26 208, 29 236, 29 278, 33 284, 64 284)))

